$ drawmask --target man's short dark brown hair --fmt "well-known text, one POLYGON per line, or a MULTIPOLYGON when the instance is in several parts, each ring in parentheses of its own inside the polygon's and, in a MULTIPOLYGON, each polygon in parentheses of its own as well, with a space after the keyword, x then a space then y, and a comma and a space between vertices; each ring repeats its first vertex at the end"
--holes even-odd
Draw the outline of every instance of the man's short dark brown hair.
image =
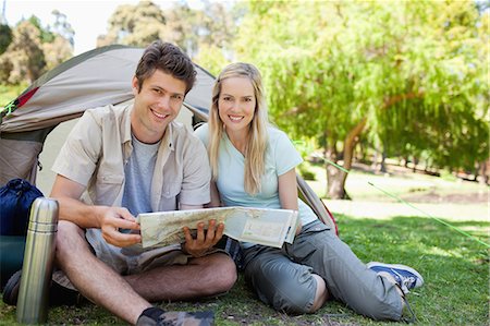
POLYGON ((157 69, 183 81, 185 94, 193 88, 196 81, 196 71, 187 55, 170 43, 156 40, 145 49, 136 68, 138 92, 142 90, 143 82, 151 76, 157 69))

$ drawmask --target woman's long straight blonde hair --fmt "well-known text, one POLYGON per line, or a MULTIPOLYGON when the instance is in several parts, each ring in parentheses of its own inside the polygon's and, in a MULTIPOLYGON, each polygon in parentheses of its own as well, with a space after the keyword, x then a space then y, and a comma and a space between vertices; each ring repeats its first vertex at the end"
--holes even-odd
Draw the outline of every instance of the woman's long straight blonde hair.
POLYGON ((265 172, 265 158, 268 141, 267 128, 269 119, 262 88, 260 72, 249 63, 232 63, 223 69, 216 80, 212 88, 212 105, 209 113, 209 160, 212 169, 212 179, 218 178, 218 156, 220 141, 224 132, 224 124, 218 112, 218 101, 221 94, 221 84, 224 80, 231 77, 247 77, 255 92, 255 111, 254 118, 249 124, 248 140, 245 147, 245 191, 249 194, 260 192, 260 178, 265 172))

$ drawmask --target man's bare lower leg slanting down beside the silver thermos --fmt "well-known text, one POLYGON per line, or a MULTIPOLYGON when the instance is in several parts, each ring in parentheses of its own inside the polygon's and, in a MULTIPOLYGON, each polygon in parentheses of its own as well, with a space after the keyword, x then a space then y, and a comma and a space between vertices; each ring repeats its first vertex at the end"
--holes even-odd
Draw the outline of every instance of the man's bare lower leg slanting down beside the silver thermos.
POLYGON ((91 253, 84 231, 72 222, 58 224, 57 264, 84 297, 133 325, 151 306, 91 253))

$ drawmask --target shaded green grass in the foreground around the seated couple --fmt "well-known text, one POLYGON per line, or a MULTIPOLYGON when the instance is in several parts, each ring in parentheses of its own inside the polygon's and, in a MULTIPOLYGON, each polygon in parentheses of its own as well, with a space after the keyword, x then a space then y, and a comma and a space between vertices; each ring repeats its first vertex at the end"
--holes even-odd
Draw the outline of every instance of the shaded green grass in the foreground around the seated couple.
MULTIPOLYGON (((340 236, 363 262, 379 261, 416 268, 424 287, 407 295, 420 325, 488 325, 488 249, 425 217, 359 219, 335 216, 340 236)), ((490 222, 448 221, 488 242, 490 222)), ((131 304, 131 303, 128 303, 131 304)), ((240 275, 226 294, 194 302, 159 303, 164 310, 212 310, 216 325, 395 325, 355 314, 330 301, 319 312, 292 316, 262 304, 240 275)), ((0 325, 15 322, 15 309, 0 303, 0 325)), ((124 325, 93 304, 52 307, 52 325, 124 325)))

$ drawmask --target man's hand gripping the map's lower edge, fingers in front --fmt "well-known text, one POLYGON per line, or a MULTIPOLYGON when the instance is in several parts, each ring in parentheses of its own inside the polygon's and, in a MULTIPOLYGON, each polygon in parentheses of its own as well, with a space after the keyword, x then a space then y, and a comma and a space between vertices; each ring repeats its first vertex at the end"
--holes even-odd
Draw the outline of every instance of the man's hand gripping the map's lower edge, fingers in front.
POLYGON ((205 231, 204 222, 197 224, 196 239, 191 234, 188 227, 184 227, 185 244, 184 251, 193 257, 204 256, 218 241, 223 237, 224 225, 216 226, 216 220, 211 219, 208 225, 208 230, 205 231))

